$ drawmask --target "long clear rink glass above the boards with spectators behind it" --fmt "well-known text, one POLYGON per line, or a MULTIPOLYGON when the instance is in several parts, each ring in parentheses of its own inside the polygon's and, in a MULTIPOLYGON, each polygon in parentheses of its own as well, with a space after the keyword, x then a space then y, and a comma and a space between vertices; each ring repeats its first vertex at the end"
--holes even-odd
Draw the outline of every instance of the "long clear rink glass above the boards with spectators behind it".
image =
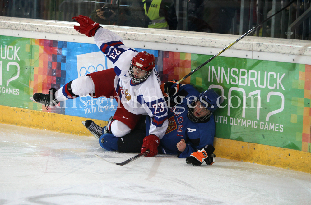
MULTIPOLYGON (((243 35, 288 3, 281 0, 0 0, 0 16, 72 21, 72 17, 83 15, 103 25, 243 35), (104 9, 107 5, 109 8, 104 9), (101 8, 106 19, 96 16, 95 10, 101 8)), ((309 7, 309 1, 295 1, 249 35, 287 38, 288 26, 304 16, 306 19, 292 28, 290 38, 310 40, 309 7)))

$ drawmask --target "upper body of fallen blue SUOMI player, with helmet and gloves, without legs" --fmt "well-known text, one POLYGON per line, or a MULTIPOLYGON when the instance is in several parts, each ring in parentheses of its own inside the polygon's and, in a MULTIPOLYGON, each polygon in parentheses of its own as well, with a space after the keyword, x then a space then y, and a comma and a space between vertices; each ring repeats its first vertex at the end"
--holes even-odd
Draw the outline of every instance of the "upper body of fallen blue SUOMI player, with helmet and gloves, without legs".
MULTIPOLYGON (((195 166, 204 161, 211 165, 215 157, 215 122, 212 114, 218 108, 219 95, 213 89, 199 93, 192 85, 169 89, 172 84, 174 82, 171 81, 161 85, 164 95, 172 95, 169 99, 174 99, 171 103, 175 105, 168 111, 169 126, 160 139, 159 153, 177 154, 195 166), (172 91, 177 93, 172 94, 172 91)), ((147 117, 146 132, 149 124, 150 118, 147 117)))

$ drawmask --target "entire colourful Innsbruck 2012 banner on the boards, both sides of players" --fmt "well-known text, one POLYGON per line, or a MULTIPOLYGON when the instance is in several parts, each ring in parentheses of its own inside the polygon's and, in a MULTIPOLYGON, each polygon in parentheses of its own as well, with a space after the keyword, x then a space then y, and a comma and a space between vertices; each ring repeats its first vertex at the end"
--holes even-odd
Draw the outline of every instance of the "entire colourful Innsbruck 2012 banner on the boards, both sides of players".
MULTIPOLYGON (((96 45, 7 36, 0 38, 1 105, 106 121, 114 114, 116 101, 104 97, 79 97, 49 110, 29 100, 34 93, 48 93, 51 87, 59 89, 77 77, 112 68, 111 62, 96 45), (5 46, 9 48, 8 53, 5 46), (14 79, 18 74, 16 63, 20 73, 14 79), (9 79, 13 80, 7 86, 9 79)), ((138 52, 142 50, 137 49, 138 52)), ((156 69, 162 82, 181 79, 211 57, 157 50, 147 52, 155 55, 156 69)), ((214 114, 216 137, 310 151, 310 65, 219 56, 184 80, 183 84, 192 84, 200 92, 208 88, 214 88, 220 95, 223 92, 226 99, 220 105, 225 107, 214 114), (262 108, 257 109, 258 97, 253 99, 251 108, 250 94, 253 97, 260 94, 262 108)))

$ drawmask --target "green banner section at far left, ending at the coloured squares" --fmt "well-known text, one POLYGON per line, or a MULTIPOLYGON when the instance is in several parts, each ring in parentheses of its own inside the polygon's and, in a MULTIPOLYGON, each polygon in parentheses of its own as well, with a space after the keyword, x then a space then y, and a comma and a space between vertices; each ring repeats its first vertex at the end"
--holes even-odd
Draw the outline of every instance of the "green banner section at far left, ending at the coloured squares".
POLYGON ((0 105, 29 107, 30 41, 28 38, 0 36, 0 105))

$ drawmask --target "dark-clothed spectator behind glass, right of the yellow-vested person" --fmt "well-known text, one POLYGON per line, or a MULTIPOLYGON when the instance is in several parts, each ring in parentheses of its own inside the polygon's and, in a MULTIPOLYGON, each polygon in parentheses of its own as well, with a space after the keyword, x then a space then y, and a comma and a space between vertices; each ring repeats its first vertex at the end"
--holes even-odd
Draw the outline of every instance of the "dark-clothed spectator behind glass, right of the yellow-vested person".
POLYGON ((188 31, 228 34, 238 7, 236 0, 189 0, 188 31))

